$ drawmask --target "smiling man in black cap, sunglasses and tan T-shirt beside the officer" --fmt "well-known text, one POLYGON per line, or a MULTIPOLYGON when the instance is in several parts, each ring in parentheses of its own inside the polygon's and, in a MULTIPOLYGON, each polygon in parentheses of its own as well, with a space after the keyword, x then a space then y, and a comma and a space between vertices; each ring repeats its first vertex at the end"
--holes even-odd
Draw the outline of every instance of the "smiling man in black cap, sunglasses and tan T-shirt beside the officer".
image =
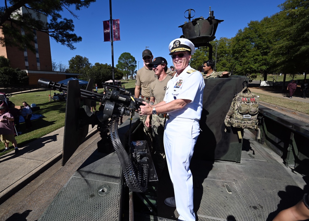
MULTIPOLYGON (((149 64, 149 67, 153 69, 158 79, 150 84, 150 105, 156 105, 163 101, 167 82, 171 80, 172 76, 167 75, 167 61, 163 57, 157 57, 149 64)), ((158 177, 160 177, 163 168, 165 166, 165 152, 163 145, 163 134, 165 125, 166 113, 148 115, 146 119, 146 126, 152 128, 152 142, 155 152, 155 168, 158 177), (150 119, 151 116, 151 119, 150 119), (150 124, 151 121, 151 124, 150 124)))

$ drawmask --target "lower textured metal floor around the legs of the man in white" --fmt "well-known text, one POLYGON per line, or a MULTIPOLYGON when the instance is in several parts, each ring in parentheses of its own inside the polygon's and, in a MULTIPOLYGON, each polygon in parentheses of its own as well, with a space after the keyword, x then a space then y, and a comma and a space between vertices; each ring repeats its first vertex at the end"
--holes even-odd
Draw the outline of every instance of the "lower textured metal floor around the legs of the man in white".
MULTIPOLYGON (((270 221, 279 211, 295 205, 306 186, 302 175, 285 167, 249 130, 244 132, 241 163, 192 159, 190 168, 194 211, 200 221, 270 221)), ((158 184, 158 215, 177 220, 177 210, 164 204, 166 197, 173 196, 171 182, 166 180, 168 172, 158 184)))

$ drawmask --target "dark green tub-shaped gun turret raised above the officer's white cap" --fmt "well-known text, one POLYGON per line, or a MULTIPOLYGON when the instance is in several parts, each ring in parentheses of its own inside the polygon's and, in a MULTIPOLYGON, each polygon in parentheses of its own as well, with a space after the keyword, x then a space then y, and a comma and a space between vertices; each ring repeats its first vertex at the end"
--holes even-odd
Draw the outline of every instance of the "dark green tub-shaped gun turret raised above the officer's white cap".
MULTIPOLYGON (((188 17, 184 16, 188 19, 188 22, 185 22, 184 24, 178 26, 179 28, 182 28, 183 35, 180 36, 180 38, 187 38, 196 48, 198 47, 209 47, 209 59, 212 59, 212 46, 210 45, 210 41, 213 41, 216 37, 216 31, 218 28, 218 24, 221 23, 224 20, 215 19, 214 17, 214 11, 210 11, 209 7, 209 17, 207 19, 203 18, 202 16, 199 18, 192 19, 194 17, 191 16, 191 11, 194 11, 193 9, 188 9, 188 17)), ((185 13, 187 12, 185 11, 185 13)), ((195 11, 194 11, 195 14, 195 11)))

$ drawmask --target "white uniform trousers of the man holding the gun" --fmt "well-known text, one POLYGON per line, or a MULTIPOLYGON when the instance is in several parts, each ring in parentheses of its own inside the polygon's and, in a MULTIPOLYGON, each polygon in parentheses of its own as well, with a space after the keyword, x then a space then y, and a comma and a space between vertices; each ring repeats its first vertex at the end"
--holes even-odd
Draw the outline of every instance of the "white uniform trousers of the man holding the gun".
POLYGON ((164 150, 168 172, 174 186, 178 220, 195 221, 193 211, 193 178, 190 160, 200 134, 195 120, 167 119, 164 130, 164 150))

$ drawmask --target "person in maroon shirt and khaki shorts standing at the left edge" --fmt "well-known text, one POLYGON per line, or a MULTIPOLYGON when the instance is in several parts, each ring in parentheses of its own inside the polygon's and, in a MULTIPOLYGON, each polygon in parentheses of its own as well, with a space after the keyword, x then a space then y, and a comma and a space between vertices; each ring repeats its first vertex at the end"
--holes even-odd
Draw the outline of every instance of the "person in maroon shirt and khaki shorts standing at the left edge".
POLYGON ((17 154, 18 147, 15 140, 13 121, 13 115, 6 112, 6 107, 0 106, 0 140, 5 145, 5 149, 2 152, 9 150, 9 144, 12 142, 13 146, 15 147, 15 154, 17 154))

